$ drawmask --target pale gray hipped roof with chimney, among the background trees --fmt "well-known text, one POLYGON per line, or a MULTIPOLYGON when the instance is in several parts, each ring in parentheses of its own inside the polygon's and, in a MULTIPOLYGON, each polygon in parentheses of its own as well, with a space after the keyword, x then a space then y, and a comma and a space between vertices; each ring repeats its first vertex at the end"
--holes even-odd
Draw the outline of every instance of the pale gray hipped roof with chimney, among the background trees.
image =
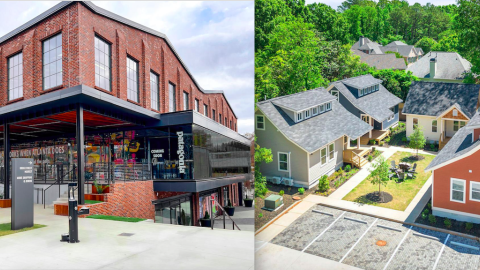
POLYGON ((461 80, 472 64, 456 52, 429 52, 407 70, 419 78, 430 78, 430 59, 437 59, 435 79, 461 80))

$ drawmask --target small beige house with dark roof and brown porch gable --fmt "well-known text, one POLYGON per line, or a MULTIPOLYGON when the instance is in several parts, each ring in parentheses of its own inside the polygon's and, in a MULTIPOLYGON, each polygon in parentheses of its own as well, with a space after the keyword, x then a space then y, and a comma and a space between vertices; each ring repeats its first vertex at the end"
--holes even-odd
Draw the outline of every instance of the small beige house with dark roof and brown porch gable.
POLYGON ((407 138, 421 127, 427 142, 442 149, 475 115, 479 91, 475 84, 413 82, 403 108, 407 138))

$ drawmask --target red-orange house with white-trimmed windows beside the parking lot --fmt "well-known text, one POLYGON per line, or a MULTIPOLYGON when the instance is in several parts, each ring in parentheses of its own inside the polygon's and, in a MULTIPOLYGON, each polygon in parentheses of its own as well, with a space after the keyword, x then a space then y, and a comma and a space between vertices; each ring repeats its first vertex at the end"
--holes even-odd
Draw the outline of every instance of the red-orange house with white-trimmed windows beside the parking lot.
POLYGON ((480 115, 461 128, 427 166, 433 215, 480 223, 480 115))

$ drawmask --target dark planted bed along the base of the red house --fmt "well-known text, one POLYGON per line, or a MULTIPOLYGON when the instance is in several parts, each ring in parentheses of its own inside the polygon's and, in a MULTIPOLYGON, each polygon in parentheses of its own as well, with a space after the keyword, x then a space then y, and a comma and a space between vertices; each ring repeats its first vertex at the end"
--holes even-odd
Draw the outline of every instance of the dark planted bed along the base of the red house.
POLYGON ((423 208, 420 215, 418 215, 415 222, 436 227, 436 228, 452 230, 459 233, 465 233, 465 234, 470 234, 470 235, 480 237, 480 225, 478 224, 470 223, 468 225, 469 229, 467 229, 467 223, 469 222, 457 221, 454 219, 448 219, 449 221, 445 221, 447 220, 447 218, 437 217, 437 216, 435 216, 435 218, 432 218, 431 214, 432 214, 432 205, 431 205, 431 201, 429 201, 423 208), (447 226, 447 224, 450 224, 450 225, 447 226))

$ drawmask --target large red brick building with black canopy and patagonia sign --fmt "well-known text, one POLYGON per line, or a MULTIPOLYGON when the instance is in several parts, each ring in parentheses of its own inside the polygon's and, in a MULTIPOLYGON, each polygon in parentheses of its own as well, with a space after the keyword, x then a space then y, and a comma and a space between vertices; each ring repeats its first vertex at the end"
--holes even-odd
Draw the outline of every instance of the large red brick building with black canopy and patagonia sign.
POLYGON ((4 167, 31 157, 37 186, 78 181, 80 203, 84 183, 108 184, 94 214, 197 225, 211 194, 242 203, 250 142, 223 91, 201 88, 165 34, 91 2, 0 38, 0 118, 4 167))

